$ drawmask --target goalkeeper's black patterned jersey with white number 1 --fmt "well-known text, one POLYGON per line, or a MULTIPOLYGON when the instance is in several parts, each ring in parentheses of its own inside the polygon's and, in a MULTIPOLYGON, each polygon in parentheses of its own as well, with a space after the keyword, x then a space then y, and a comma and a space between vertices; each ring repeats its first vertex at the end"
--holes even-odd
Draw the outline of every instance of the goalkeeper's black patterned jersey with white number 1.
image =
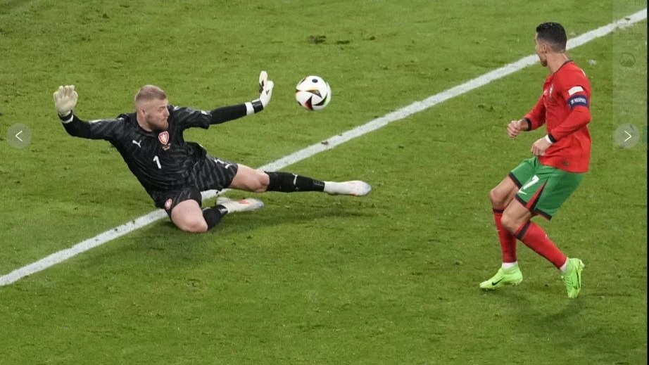
POLYGON ((135 113, 92 122, 73 116, 63 125, 72 136, 111 142, 147 192, 170 191, 184 186, 192 167, 206 155, 198 143, 184 141, 184 129, 208 129, 214 121, 211 113, 203 110, 173 105, 168 109, 169 127, 161 132, 141 129, 135 113))

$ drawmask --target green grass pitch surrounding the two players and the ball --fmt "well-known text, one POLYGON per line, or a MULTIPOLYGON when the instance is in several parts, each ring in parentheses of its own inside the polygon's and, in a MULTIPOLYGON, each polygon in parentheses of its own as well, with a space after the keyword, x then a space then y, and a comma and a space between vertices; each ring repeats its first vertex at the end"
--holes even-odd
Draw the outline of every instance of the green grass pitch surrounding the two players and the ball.
MULTIPOLYGON (((142 84, 241 103, 267 70, 267 110, 186 133, 258 167, 528 56, 538 23, 574 37, 645 7, 0 0, 0 274, 153 210, 114 148, 65 133, 60 84, 92 120, 132 110, 142 84), (333 89, 317 113, 293 96, 311 74, 333 89), (27 148, 6 141, 15 123, 27 148)), ((264 210, 207 234, 158 221, 0 287, 0 364, 646 364, 647 146, 613 138, 646 127, 646 26, 569 52, 593 89, 591 172, 539 222, 584 260, 579 299, 522 244, 522 285, 478 288, 500 264, 489 190, 543 135, 505 134, 541 92, 534 65, 284 169, 370 196, 253 194, 264 210)))

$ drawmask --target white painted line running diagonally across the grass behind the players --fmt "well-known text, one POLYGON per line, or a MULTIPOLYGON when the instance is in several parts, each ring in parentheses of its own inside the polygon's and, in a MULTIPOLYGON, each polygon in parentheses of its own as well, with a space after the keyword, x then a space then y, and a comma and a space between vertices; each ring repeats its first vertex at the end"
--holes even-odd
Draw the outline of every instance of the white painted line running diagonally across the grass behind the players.
MULTIPOLYGON (((582 44, 585 44, 588 41, 592 41, 593 39, 603 37, 617 28, 627 27, 634 23, 638 23, 642 20, 645 20, 646 18, 647 18, 647 9, 645 8, 641 11, 638 11, 637 13, 634 13, 633 15, 626 16, 625 18, 617 20, 613 23, 610 23, 603 27, 599 27, 596 30, 591 30, 590 32, 581 34, 579 37, 570 39, 568 41, 568 49, 573 49, 575 47, 581 46, 582 44)), ((293 165, 296 162, 305 160, 306 158, 310 158, 311 156, 316 155, 317 153, 330 150, 341 143, 345 143, 346 141, 355 139, 358 136, 363 136, 363 134, 367 134, 379 128, 385 127, 387 124, 390 124, 391 122, 402 120, 405 117, 409 117, 410 115, 419 113, 422 110, 431 108, 431 106, 437 105, 439 103, 443 103, 444 101, 447 101, 450 98, 455 98, 455 96, 466 94, 469 91, 472 91, 486 84, 489 84, 490 82, 493 82, 497 79, 501 79, 514 72, 522 70, 523 68, 526 68, 529 65, 534 65, 537 62, 538 59, 536 58, 536 55, 521 58, 520 60, 517 60, 514 63, 504 65, 501 68, 487 72, 486 74, 476 77, 474 79, 470 79, 469 81, 463 84, 460 84, 456 87, 452 87, 446 91, 442 91, 441 93, 430 96, 429 98, 425 98, 422 101, 415 101, 415 103, 412 103, 401 109, 395 110, 392 113, 386 114, 382 117, 378 117, 377 119, 371 120, 370 122, 360 125, 359 127, 350 129, 347 132, 344 132, 343 134, 332 136, 331 138, 327 139, 327 141, 315 143, 311 146, 301 149, 300 151, 291 153, 290 155, 287 155, 284 158, 280 158, 279 160, 270 162, 269 164, 263 165, 262 167, 259 168, 267 171, 275 171, 277 169, 283 169, 286 166, 293 165)), ((206 191, 203 193, 203 198, 205 199, 213 198, 215 194, 216 194, 215 191, 206 191)), ((136 229, 141 229, 144 226, 156 222, 158 219, 162 219, 166 215, 167 214, 163 210, 155 210, 149 214, 146 214, 142 217, 135 219, 132 222, 122 224, 121 226, 115 227, 113 229, 109 229, 108 231, 105 231, 103 233, 99 233, 97 236, 94 236, 93 238, 88 238, 87 240, 77 243, 76 245, 73 245, 70 248, 66 248, 65 250, 54 252, 53 254, 44 257, 41 260, 38 260, 37 262, 33 262, 32 264, 27 264, 24 267, 20 267, 18 269, 11 271, 9 274, 0 276, 0 286, 6 286, 8 284, 20 280, 21 278, 24 278, 25 276, 35 274, 39 271, 43 271, 48 267, 61 263, 65 260, 68 260, 70 257, 74 257, 76 255, 79 255, 82 252, 95 248, 99 245, 103 245, 104 243, 113 241, 115 238, 124 236, 125 234, 135 231, 136 229)))

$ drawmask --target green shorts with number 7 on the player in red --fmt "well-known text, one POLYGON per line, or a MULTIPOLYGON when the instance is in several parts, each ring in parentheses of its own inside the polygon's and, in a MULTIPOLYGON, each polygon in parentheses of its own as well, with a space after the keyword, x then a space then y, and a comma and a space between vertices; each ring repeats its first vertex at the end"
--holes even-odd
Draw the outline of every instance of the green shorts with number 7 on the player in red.
POLYGON ((584 174, 541 165, 538 158, 528 158, 510 172, 519 187, 515 198, 533 215, 552 219, 584 179, 584 174))

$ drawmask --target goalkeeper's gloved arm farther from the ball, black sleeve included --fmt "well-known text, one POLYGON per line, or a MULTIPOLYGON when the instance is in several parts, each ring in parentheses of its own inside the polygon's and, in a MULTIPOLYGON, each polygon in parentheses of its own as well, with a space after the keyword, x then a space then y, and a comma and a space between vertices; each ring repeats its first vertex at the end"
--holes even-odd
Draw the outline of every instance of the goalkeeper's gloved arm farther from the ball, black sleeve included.
POLYGON ((54 91, 53 96, 54 107, 58 112, 58 117, 63 122, 63 127, 70 136, 85 139, 106 139, 110 141, 122 126, 120 120, 97 120, 92 123, 80 120, 73 113, 73 109, 77 105, 79 98, 74 85, 58 87, 58 90, 54 91))

